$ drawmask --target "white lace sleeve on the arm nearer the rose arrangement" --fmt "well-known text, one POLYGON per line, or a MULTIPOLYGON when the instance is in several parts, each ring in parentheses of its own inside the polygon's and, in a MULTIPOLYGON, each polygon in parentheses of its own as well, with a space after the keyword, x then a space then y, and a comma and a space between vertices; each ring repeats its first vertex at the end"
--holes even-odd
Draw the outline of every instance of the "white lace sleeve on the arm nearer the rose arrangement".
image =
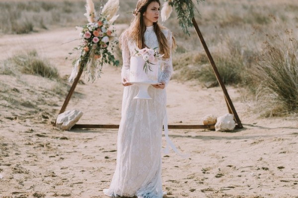
POLYGON ((123 65, 121 69, 121 81, 124 83, 124 80, 126 82, 129 82, 129 72, 130 72, 130 50, 128 47, 128 37, 127 34, 122 35, 122 58, 123 58, 123 65))

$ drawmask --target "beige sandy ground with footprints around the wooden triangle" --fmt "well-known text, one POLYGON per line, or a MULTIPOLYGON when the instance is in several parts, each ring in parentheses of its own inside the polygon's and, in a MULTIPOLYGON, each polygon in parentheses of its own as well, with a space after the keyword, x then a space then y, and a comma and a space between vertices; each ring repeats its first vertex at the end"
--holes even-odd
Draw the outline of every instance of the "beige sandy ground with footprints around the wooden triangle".
MULTIPOLYGON (((76 38, 74 28, 4 35, 0 59, 36 49, 61 76, 69 75, 72 65, 65 57, 77 41, 67 42, 76 38)), ((84 84, 75 90, 67 110, 83 111, 79 123, 120 122, 120 68, 105 66, 103 72, 93 84, 82 78, 84 84)), ((64 98, 49 91, 58 89, 53 81, 31 75, 0 75, 0 81, 11 99, 24 100, 15 107, 5 107, 1 100, 0 197, 104 198, 102 190, 109 187, 116 165, 117 130, 60 131, 51 121, 64 98)), ((170 130, 176 147, 189 155, 163 155, 164 198, 298 198, 297 118, 260 119, 251 110, 254 102, 243 98, 241 90, 227 90, 244 129, 170 130)), ((205 115, 227 113, 220 88, 194 82, 172 80, 167 107, 169 124, 202 124, 205 115)))

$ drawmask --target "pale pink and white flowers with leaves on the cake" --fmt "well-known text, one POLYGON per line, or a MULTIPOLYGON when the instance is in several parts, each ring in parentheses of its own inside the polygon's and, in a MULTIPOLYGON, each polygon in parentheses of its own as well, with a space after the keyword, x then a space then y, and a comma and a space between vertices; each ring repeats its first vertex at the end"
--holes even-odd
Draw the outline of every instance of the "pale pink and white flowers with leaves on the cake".
POLYGON ((155 65, 154 62, 155 58, 161 58, 164 54, 160 54, 156 48, 153 49, 149 49, 149 48, 143 48, 143 49, 135 49, 136 53, 135 56, 143 56, 143 59, 145 60, 145 64, 143 66, 143 71, 145 71, 145 73, 148 73, 148 70, 152 71, 152 68, 150 66, 151 65, 155 65))

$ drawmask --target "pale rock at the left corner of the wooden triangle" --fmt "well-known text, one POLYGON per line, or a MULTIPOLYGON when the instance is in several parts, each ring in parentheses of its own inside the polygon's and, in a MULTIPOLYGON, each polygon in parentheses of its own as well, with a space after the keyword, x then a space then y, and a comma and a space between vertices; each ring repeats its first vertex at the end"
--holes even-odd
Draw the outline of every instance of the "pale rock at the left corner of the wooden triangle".
POLYGON ((62 130, 71 130, 74 124, 83 115, 83 112, 79 110, 65 111, 58 115, 56 120, 56 126, 62 130))

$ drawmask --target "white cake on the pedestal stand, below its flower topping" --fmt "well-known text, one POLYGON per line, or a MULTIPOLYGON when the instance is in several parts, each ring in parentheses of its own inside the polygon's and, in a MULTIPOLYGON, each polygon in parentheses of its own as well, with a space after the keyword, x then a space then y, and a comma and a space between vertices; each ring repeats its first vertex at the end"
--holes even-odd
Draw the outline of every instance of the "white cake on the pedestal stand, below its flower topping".
POLYGON ((131 83, 158 83, 158 64, 157 58, 150 64, 151 70, 144 69, 145 60, 143 56, 132 56, 130 59, 130 75, 131 83))

